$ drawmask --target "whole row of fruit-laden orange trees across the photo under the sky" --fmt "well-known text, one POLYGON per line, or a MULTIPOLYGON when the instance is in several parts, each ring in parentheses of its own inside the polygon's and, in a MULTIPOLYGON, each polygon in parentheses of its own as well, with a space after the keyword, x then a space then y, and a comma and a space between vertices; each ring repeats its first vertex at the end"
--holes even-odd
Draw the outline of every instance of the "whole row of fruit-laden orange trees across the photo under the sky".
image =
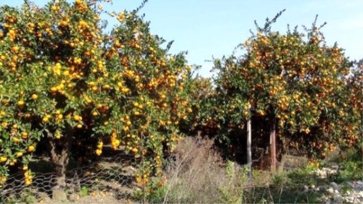
POLYGON ((360 147, 362 65, 326 45, 315 23, 304 35, 267 21, 240 45, 243 56, 215 60, 217 76, 206 79, 192 75, 185 53, 162 47, 138 10, 101 3, 0 8, 0 185, 17 170, 29 185, 30 159, 48 152, 61 187, 70 158, 101 156, 105 144, 144 158, 136 181, 146 184, 183 133, 231 145, 250 117, 311 158, 360 147), (102 13, 118 20, 110 32, 102 13))

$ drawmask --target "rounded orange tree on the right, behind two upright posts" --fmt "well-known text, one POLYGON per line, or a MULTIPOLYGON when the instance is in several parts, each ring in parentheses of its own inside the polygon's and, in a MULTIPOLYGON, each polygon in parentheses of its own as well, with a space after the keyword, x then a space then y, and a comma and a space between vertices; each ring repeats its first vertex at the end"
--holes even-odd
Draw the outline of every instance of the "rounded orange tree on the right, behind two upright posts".
MULTIPOLYGON (((253 116, 253 137, 277 129, 283 150, 298 145, 311 158, 321 158, 349 134, 350 123, 346 76, 351 66, 337 44, 326 45, 316 19, 306 34, 287 30, 273 32, 274 19, 267 19, 257 34, 239 47, 242 56, 216 59, 216 111, 221 140, 232 143, 246 119, 253 116), (252 107, 252 115, 248 106, 252 107), (262 125, 262 127, 261 127, 262 125), (267 126, 267 127, 266 127, 267 126), (258 134, 257 134, 258 133, 258 134)), ((233 149, 233 144, 228 144, 233 149)))

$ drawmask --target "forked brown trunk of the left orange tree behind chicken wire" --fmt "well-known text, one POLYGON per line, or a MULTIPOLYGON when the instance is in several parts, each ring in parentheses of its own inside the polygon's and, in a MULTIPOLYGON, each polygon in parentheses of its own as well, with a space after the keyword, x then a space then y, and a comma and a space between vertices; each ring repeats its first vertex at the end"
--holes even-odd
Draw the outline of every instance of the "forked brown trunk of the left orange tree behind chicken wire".
POLYGON ((54 186, 52 188, 52 199, 65 200, 66 193, 66 169, 69 162, 70 149, 72 147, 73 132, 70 127, 67 127, 65 142, 61 150, 57 151, 57 146, 54 141, 53 134, 48 132, 49 153, 54 166, 54 174, 56 176, 54 186))

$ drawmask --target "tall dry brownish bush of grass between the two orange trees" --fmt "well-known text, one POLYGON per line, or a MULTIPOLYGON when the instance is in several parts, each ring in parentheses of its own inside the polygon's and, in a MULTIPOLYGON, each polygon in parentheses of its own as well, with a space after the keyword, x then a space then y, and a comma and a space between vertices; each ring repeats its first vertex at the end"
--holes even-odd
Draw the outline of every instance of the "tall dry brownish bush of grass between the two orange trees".
MULTIPOLYGON (((213 149, 212 140, 185 138, 172 159, 166 169, 167 185, 162 203, 224 203, 230 199, 225 194, 234 191, 231 188, 240 183, 234 164, 223 162, 213 149)), ((240 197, 238 194, 234 192, 233 196, 240 197)))

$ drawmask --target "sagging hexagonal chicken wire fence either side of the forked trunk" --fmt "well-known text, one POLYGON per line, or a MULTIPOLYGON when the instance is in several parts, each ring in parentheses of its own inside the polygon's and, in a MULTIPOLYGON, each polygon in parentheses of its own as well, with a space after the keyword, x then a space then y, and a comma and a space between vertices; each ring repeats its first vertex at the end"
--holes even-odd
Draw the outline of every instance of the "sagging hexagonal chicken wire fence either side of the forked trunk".
MULTIPOLYGON (((112 195, 120 201, 129 200, 132 193, 140 189, 135 182, 139 163, 130 155, 118 154, 102 158, 89 166, 73 168, 66 172, 67 199, 72 201, 87 195, 112 195)), ((52 196, 56 176, 53 173, 33 173, 30 185, 25 185, 21 172, 9 176, 0 189, 0 204, 46 203, 52 196)))

